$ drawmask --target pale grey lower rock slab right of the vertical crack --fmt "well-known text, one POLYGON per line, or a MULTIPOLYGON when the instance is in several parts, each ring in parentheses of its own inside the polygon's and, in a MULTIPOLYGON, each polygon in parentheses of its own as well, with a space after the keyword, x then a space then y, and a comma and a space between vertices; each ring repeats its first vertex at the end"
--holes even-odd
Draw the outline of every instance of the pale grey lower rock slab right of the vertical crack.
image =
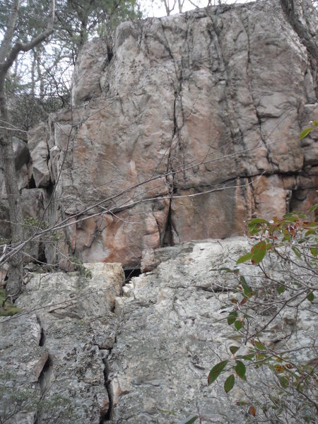
MULTIPOLYGON (((237 342, 221 309, 228 300, 221 288, 231 277, 217 270, 232 269, 248 249, 249 242, 242 237, 159 249, 153 257, 166 260, 124 286, 124 297, 116 300, 121 324, 110 357, 112 423, 175 424, 197 411, 202 423, 249 422, 245 411, 233 403, 253 388, 245 387, 245 394, 233 390, 227 396, 223 382, 207 384, 211 367, 229 358, 228 348, 237 342)), ((256 266, 243 265, 241 271, 245 278, 261 276, 256 266)), ((263 319, 266 322, 266 316, 263 319)), ((317 326, 310 302, 298 316, 290 310, 278 314, 273 331, 266 331, 262 340, 277 348, 295 319, 298 333, 288 346, 311 344, 317 326)), ((310 359, 302 355, 302 360, 310 359)), ((249 381, 260 385, 261 370, 252 377, 249 367, 248 374, 249 381)))

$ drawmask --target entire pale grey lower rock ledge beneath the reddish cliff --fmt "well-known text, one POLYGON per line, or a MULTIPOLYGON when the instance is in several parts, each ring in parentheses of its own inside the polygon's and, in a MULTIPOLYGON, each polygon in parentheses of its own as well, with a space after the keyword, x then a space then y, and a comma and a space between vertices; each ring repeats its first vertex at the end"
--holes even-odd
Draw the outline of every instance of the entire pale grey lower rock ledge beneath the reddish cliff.
MULTIPOLYGON (((166 247, 153 252, 162 261, 153 271, 123 288, 119 264, 87 265, 91 280, 78 273, 30 273, 18 299, 23 314, 0 321, 0 390, 6 384, 7 396, 0 399, 0 418, 16 408, 6 423, 177 424, 199 411, 206 424, 242 424, 248 406, 235 401, 254 390, 260 406, 251 422, 263 422, 264 371, 248 367, 249 385, 242 391, 236 382, 230 396, 224 376, 219 384, 207 381, 211 367, 240 343, 223 314, 234 293, 223 287, 235 278, 219 269, 232 269, 249 248, 243 237, 166 247), (18 404, 17 396, 26 394, 18 404)), ((264 278, 257 266, 243 264, 241 272, 251 281, 264 278)), ((301 310, 277 311, 261 340, 276 349, 288 334, 292 354, 299 351, 302 363, 315 360, 315 311, 309 300, 301 310)), ((273 317, 268 312, 255 312, 256 325, 273 317)))

